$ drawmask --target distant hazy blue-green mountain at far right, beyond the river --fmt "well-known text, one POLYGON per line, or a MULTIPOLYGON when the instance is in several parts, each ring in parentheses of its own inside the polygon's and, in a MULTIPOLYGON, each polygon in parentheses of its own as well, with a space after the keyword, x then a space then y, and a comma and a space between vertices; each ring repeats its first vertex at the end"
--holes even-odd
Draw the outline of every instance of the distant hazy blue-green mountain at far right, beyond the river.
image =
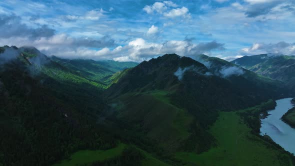
POLYGON ((268 53, 243 56, 232 62, 261 75, 283 81, 290 89, 295 87, 295 56, 268 53))

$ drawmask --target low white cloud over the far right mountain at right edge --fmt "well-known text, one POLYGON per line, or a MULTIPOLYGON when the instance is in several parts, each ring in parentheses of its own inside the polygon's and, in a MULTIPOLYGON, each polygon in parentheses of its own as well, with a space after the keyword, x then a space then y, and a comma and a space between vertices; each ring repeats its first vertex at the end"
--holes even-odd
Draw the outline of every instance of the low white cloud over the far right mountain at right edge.
POLYGON ((293 55, 295 53, 295 44, 280 41, 277 43, 254 43, 250 47, 241 49, 243 54, 260 54, 260 53, 275 53, 275 54, 286 54, 293 55))

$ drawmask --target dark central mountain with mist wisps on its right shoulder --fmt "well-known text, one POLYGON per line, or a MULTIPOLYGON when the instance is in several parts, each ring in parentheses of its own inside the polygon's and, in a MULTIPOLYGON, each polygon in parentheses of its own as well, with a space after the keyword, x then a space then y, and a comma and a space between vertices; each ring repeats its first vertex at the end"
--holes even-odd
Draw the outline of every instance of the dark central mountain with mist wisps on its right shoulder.
POLYGON ((122 125, 144 131, 143 137, 167 151, 201 152, 214 142, 206 128, 218 110, 253 106, 284 93, 279 81, 225 60, 200 55, 199 61, 165 54, 125 71, 105 91, 122 125))

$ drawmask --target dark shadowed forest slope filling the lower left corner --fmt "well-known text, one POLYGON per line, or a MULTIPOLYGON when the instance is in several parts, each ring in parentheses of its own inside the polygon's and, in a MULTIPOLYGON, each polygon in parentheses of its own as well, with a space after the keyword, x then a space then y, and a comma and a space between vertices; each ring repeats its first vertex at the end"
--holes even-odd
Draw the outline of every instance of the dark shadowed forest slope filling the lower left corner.
POLYGON ((2 65, 0 165, 51 165, 78 149, 116 146, 117 141, 75 104, 64 103, 22 63, 2 65))

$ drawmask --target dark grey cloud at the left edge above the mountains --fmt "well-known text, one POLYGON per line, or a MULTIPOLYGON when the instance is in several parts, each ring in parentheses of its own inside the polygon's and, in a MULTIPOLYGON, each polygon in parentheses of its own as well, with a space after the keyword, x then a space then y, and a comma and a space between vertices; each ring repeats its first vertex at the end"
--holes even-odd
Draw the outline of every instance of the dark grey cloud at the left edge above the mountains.
POLYGON ((0 37, 9 38, 13 36, 29 37, 36 39, 40 37, 53 36, 55 30, 49 28, 47 25, 41 25, 37 28, 28 27, 26 24, 21 23, 19 16, 14 14, 0 14, 0 37))

